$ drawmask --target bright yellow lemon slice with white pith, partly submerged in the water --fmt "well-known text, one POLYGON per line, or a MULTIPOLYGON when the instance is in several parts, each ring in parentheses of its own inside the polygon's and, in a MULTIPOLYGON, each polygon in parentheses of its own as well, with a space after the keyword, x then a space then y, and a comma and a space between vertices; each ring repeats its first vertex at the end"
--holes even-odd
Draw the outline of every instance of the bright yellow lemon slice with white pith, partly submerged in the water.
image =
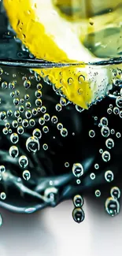
POLYGON ((52 0, 3 0, 3 4, 18 38, 36 58, 62 64, 81 63, 36 72, 84 109, 96 97, 105 95, 109 81, 104 78, 108 77, 108 69, 102 69, 94 79, 95 68, 83 64, 83 61, 93 61, 94 56, 81 44, 72 22, 54 9, 52 0))

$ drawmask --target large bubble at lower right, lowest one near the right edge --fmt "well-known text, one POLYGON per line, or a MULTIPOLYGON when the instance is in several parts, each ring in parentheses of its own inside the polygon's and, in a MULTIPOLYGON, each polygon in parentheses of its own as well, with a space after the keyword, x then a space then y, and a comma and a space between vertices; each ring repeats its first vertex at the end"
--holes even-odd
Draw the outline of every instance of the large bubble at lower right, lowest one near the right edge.
POLYGON ((107 198, 105 201, 105 210, 112 217, 120 212, 120 203, 115 198, 107 198))

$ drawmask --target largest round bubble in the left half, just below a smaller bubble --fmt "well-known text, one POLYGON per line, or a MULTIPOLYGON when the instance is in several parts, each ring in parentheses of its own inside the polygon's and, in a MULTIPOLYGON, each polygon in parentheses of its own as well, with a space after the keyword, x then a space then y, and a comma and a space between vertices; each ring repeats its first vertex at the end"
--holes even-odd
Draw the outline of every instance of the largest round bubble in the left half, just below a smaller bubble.
POLYGON ((37 137, 31 136, 26 141, 26 147, 29 152, 35 153, 37 150, 39 150, 39 139, 37 137))

